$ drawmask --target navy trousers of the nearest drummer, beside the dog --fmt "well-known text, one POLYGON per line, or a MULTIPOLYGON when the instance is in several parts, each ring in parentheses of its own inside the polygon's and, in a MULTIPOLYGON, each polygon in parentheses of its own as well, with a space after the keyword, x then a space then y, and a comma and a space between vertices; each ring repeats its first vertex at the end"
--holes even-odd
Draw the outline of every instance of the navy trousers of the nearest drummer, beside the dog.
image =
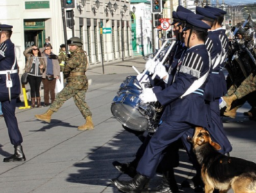
POLYGON ((200 172, 200 166, 192 152, 192 144, 188 143, 186 140, 188 135, 193 136, 194 127, 195 126, 190 123, 163 121, 156 133, 152 136, 152 139, 150 139, 147 148, 138 163, 137 172, 143 176, 152 178, 156 174, 156 168, 163 158, 163 150, 165 150, 165 148, 172 142, 180 138, 183 141, 193 165, 196 167, 196 171, 200 172))

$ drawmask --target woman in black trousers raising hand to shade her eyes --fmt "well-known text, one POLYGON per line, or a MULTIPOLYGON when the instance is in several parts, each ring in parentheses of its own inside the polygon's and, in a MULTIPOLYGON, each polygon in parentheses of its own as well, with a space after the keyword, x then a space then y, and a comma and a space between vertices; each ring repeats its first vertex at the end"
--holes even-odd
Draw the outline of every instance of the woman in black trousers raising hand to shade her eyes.
POLYGON ((42 74, 46 68, 41 52, 36 45, 33 45, 23 52, 26 57, 25 72, 28 73, 28 83, 30 85, 31 108, 35 108, 35 99, 37 99, 37 108, 41 107, 40 85, 42 74))

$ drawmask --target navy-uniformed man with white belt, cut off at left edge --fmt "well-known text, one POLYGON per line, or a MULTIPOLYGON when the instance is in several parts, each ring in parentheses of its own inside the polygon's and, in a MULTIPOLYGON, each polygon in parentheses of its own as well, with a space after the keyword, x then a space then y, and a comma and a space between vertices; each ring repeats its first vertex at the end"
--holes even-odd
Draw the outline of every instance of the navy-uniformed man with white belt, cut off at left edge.
POLYGON ((10 40, 12 26, 0 25, 0 102, 3 117, 8 128, 10 143, 14 145, 15 154, 3 159, 3 162, 26 161, 22 150, 23 142, 15 116, 16 100, 21 92, 15 45, 10 40))

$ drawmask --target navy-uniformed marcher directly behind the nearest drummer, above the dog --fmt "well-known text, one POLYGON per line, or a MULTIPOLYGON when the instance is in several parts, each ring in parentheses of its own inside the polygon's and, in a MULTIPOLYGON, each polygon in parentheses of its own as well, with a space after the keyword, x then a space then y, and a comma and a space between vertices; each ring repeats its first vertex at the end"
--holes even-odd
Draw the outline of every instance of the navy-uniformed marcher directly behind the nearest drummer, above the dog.
POLYGON ((208 82, 205 86, 205 101, 208 108, 208 120, 212 138, 221 145, 220 152, 228 154, 232 151, 232 146, 223 130, 223 123, 219 110, 219 99, 226 92, 226 80, 221 71, 222 44, 219 39, 219 32, 214 30, 214 23, 218 21, 218 14, 208 9, 196 7, 196 14, 203 16, 202 21, 208 23, 211 29, 208 31, 208 39, 205 41, 206 48, 211 55, 211 69, 208 82))

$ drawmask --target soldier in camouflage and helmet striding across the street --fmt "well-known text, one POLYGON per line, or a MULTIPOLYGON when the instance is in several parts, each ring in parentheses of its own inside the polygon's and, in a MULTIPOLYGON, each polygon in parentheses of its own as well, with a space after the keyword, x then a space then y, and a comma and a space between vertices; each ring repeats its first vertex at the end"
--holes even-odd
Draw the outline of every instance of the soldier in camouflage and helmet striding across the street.
MULTIPOLYGON (((88 89, 88 79, 85 75, 87 70, 87 59, 84 50, 82 50, 82 41, 78 37, 73 37, 68 40, 71 57, 66 57, 66 65, 64 67, 64 78, 66 78, 66 85, 64 89, 57 94, 55 101, 44 114, 36 114, 35 117, 39 120, 51 122, 51 115, 57 112, 64 102, 71 97, 75 101, 75 105, 86 119, 86 123, 78 127, 78 130, 93 130, 94 125, 91 119, 91 111, 89 106, 84 101, 85 93, 88 89)), ((57 58, 56 55, 51 56, 57 58)))

